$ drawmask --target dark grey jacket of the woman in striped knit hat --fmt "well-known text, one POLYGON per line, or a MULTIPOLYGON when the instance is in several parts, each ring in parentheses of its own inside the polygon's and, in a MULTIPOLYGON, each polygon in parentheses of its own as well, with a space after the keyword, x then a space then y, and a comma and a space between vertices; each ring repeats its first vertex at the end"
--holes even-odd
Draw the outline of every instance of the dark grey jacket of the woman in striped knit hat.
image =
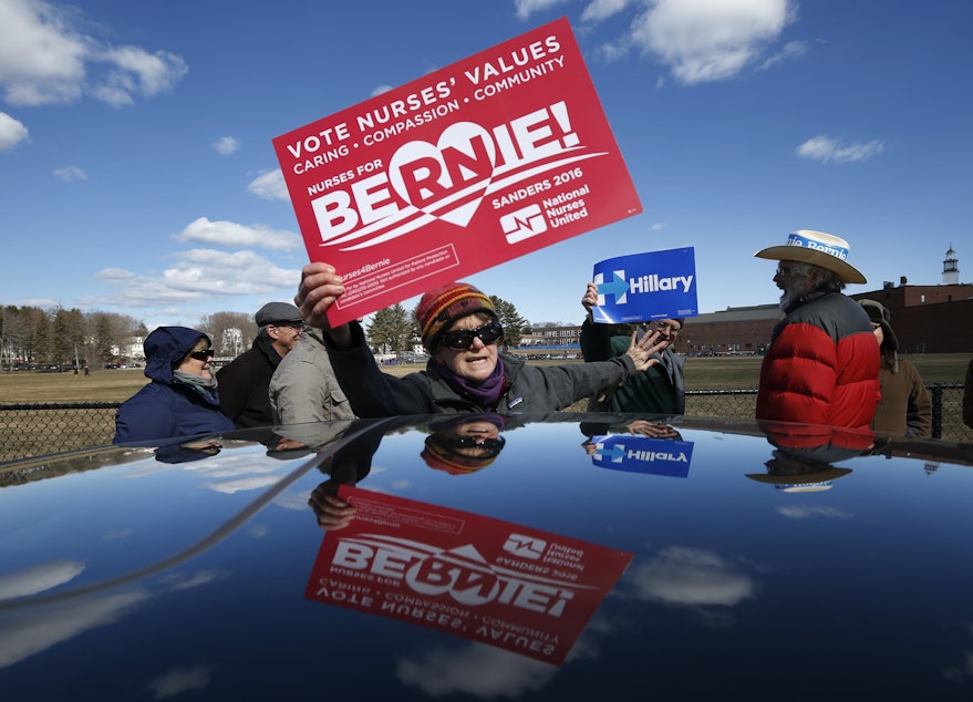
POLYGON ((536 367, 500 353, 507 390, 498 406, 484 407, 453 390, 439 378, 432 362, 425 371, 404 378, 383 373, 365 345, 361 327, 352 323, 351 329, 354 348, 343 351, 329 345, 328 352, 352 409, 361 417, 493 411, 556 412, 638 373, 628 355, 597 363, 536 367))

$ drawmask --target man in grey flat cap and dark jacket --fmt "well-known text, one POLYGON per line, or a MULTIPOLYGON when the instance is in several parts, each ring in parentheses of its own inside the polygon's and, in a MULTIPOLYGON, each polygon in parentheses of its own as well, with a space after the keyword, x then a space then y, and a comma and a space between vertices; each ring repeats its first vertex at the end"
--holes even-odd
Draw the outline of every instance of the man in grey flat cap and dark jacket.
POLYGON ((253 345, 216 373, 220 405, 237 429, 273 424, 270 379, 304 329, 300 310, 289 302, 268 302, 255 321, 259 329, 253 345))

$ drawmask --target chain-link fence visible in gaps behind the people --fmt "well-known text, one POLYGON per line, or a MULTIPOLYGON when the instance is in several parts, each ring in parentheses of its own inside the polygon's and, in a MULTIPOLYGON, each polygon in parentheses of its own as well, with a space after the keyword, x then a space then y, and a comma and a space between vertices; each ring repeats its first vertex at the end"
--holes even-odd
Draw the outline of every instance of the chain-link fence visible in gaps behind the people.
MULTIPOLYGON (((928 384, 932 396, 932 435, 973 442, 963 424, 963 383, 928 384)), ((756 390, 689 390, 687 416, 751 419, 756 390)), ((115 434, 118 402, 0 405, 0 463, 104 446, 115 434)))

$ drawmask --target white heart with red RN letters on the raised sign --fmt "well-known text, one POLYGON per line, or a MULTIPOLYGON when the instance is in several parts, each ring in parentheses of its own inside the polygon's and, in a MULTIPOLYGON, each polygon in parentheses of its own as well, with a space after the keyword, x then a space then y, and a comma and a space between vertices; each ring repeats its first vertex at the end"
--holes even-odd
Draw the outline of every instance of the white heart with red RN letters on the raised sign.
POLYGON ((490 184, 496 155, 489 132, 474 122, 456 122, 435 145, 416 141, 401 146, 389 163, 389 180, 416 209, 465 227, 490 184))

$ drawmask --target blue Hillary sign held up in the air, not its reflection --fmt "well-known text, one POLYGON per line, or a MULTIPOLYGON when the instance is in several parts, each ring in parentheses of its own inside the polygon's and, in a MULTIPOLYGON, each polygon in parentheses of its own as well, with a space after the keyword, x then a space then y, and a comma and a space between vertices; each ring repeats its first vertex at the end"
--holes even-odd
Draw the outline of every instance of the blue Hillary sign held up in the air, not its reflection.
POLYGON ((696 259, 692 247, 609 258, 594 265, 598 307, 604 324, 695 317, 696 259))

